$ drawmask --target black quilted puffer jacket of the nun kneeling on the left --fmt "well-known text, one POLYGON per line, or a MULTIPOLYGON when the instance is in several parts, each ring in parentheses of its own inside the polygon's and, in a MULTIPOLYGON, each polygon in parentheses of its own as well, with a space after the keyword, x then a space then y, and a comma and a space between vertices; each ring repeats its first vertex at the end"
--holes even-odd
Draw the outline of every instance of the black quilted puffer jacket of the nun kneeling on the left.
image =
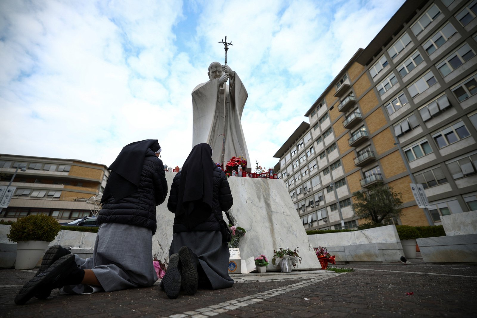
POLYGON ((161 159, 149 150, 144 158, 139 188, 121 200, 110 197, 98 215, 101 223, 121 223, 143 226, 156 233, 156 205, 164 202, 167 195, 166 173, 161 159))

